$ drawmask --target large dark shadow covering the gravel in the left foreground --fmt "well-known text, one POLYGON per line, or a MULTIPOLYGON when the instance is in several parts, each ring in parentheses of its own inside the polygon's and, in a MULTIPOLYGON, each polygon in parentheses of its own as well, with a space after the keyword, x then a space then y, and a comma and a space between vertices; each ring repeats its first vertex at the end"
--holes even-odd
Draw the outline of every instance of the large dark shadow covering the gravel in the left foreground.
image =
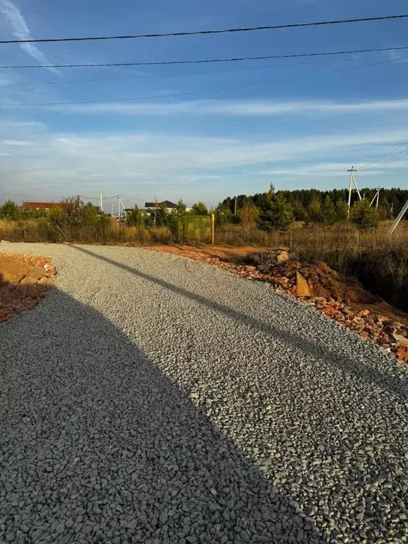
POLYGON ((96 310, 52 288, 0 336, 1 542, 327 542, 96 310))

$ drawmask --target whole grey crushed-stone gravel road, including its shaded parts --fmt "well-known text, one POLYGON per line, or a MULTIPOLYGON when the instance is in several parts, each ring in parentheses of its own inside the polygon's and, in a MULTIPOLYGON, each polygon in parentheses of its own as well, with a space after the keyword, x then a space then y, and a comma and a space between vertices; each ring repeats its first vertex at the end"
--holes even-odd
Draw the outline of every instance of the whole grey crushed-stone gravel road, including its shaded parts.
POLYGON ((55 288, 0 324, 0 544, 408 542, 408 367, 171 254, 1 244, 55 288))

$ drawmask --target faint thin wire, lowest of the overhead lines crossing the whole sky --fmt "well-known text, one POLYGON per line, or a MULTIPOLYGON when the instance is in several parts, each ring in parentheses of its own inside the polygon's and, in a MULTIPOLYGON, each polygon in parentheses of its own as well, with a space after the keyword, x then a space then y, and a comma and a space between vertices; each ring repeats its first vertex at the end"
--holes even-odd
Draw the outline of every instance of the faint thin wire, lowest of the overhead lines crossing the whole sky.
MULTIPOLYGON (((401 57, 401 59, 402 58, 405 58, 405 57, 401 57)), ((305 79, 307 77, 318 77, 318 76, 324 76, 327 74, 336 74, 339 72, 346 72, 348 70, 367 68, 371 66, 377 66, 378 64, 386 64, 388 62, 396 62, 397 60, 400 60, 400 59, 388 59, 388 60, 383 60, 381 62, 371 62, 370 64, 360 64, 359 66, 354 66, 354 67, 341 68, 338 70, 329 70, 328 72, 317 72, 314 74, 305 74, 303 76, 273 79, 271 81, 259 81, 257 83, 249 83, 244 85, 231 85, 231 86, 225 86, 225 87, 217 87, 217 89, 205 89, 202 91, 186 91, 183 93, 157 94, 152 96, 135 96, 132 98, 107 98, 103 100, 84 100, 84 101, 67 101, 67 102, 34 102, 34 103, 26 103, 26 104, 0 104, 0 107, 1 108, 26 108, 27 106, 70 106, 74 104, 132 102, 132 101, 139 101, 139 100, 152 100, 154 98, 173 98, 175 96, 192 96, 196 94, 215 93, 217 91, 228 91, 230 89, 246 89, 248 87, 270 85, 280 81, 290 81, 290 80, 297 80, 297 79, 305 79)))

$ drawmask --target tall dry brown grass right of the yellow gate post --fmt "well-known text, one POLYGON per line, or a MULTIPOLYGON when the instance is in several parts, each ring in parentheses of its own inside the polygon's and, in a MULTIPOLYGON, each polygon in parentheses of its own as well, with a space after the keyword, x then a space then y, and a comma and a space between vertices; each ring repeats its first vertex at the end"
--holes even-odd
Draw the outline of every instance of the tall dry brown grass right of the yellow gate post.
POLYGON ((365 288, 408 311, 408 221, 393 234, 391 222, 377 229, 359 230, 353 225, 314 225, 288 232, 259 232, 227 225, 217 229, 217 244, 288 246, 300 261, 324 261, 345 276, 356 277, 365 288))

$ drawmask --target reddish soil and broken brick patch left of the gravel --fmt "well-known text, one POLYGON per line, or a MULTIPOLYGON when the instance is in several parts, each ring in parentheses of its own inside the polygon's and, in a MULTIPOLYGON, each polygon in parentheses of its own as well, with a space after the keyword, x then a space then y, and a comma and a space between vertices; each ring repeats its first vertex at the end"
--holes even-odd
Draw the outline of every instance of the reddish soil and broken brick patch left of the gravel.
POLYGON ((0 254, 0 323, 45 297, 57 271, 47 257, 0 254))

